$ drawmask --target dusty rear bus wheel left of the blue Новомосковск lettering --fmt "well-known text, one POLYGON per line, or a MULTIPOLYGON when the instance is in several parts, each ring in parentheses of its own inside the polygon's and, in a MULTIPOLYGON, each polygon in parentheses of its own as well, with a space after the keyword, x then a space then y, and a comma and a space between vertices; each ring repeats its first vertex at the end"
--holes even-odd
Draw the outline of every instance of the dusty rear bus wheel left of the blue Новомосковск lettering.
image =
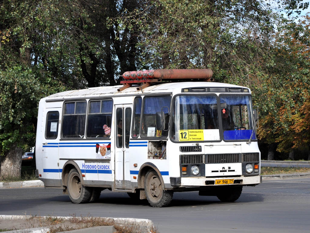
POLYGON ((87 203, 91 197, 90 189, 82 185, 80 175, 74 168, 68 176, 68 193, 71 201, 76 204, 87 203))

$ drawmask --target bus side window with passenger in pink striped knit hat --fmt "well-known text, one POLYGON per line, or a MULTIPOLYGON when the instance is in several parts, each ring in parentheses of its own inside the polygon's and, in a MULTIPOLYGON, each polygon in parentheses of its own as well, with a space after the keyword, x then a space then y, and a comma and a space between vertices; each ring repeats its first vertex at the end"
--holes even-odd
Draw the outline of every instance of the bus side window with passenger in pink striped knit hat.
POLYGON ((90 101, 87 115, 87 138, 109 138, 112 124, 112 100, 90 101))

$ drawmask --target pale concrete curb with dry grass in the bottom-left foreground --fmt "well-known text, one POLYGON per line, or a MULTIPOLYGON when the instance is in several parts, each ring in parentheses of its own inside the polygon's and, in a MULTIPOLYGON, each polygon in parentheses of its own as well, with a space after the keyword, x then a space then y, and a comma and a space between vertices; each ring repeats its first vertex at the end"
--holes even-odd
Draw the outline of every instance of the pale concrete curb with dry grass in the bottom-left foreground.
MULTIPOLYGON (((65 219, 65 220, 69 220, 72 218, 80 218, 80 217, 56 217, 53 216, 55 218, 61 218, 61 219, 65 219)), ((0 215, 0 220, 17 220, 17 219, 28 219, 28 218, 33 218, 33 216, 30 215, 0 215)), ((42 216, 40 218, 51 218, 51 216, 42 216)), ((81 217, 82 218, 82 217, 81 217)), ((84 217, 82 219, 91 219, 91 218, 100 218, 103 220, 107 220, 109 223, 111 223, 111 226, 113 226, 113 224, 117 224, 120 226, 135 226, 140 228, 140 230, 142 230, 143 232, 150 232, 153 228, 154 228, 154 224, 151 220, 149 219, 143 219, 143 218, 111 218, 111 217, 84 217)), ((42 230, 43 227, 39 228, 42 230)), ((93 228, 93 227, 92 227, 93 228)), ((113 226, 114 229, 114 226, 113 226)), ((105 231, 97 231, 98 229, 91 229, 91 228, 84 228, 84 229, 79 229, 79 230, 74 230, 75 233, 89 233, 89 232, 114 232, 113 229, 111 227, 108 227, 106 229, 104 229, 105 231), (89 231, 91 230, 91 231, 89 231)), ((24 229, 25 230, 25 229, 24 229)), ((24 231, 22 230, 22 232, 33 232, 33 231, 24 231)), ((27 230, 33 230, 33 229, 27 229, 27 230)), ((14 231, 16 232, 16 231, 14 231)), ((43 231, 35 231, 33 233, 38 233, 41 232, 43 233, 43 231)), ((73 231, 66 231, 66 232, 73 232, 73 231)), ((44 231, 45 233, 45 231, 44 231)))

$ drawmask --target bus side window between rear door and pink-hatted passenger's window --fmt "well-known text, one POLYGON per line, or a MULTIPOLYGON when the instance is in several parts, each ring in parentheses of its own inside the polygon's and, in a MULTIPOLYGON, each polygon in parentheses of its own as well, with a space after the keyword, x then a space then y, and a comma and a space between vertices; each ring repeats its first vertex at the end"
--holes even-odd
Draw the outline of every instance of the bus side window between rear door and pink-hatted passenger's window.
POLYGON ((62 138, 83 138, 86 120, 86 101, 64 103, 62 138))

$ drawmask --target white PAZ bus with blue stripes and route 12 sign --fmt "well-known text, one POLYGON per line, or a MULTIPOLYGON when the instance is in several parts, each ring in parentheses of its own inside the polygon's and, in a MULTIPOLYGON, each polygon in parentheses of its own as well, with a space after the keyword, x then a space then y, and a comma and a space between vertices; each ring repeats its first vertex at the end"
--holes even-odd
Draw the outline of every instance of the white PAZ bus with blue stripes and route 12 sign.
POLYGON ((195 71, 210 70, 177 70, 186 82, 148 76, 42 98, 36 176, 73 203, 94 202, 104 189, 153 207, 182 191, 237 200, 243 186, 261 183, 251 91, 193 81, 195 71))

